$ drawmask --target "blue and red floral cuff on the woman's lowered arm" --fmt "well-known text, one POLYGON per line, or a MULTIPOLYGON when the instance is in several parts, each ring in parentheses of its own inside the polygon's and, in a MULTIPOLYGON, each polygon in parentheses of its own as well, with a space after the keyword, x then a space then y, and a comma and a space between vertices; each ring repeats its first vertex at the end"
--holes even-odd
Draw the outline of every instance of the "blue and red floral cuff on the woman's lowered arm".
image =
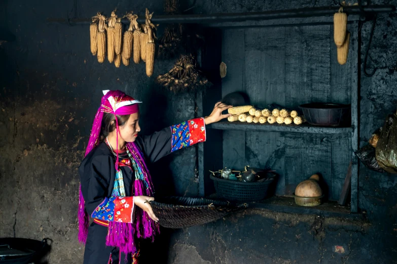
POLYGON ((91 216, 101 221, 132 223, 134 214, 134 197, 110 197, 96 207, 91 216))

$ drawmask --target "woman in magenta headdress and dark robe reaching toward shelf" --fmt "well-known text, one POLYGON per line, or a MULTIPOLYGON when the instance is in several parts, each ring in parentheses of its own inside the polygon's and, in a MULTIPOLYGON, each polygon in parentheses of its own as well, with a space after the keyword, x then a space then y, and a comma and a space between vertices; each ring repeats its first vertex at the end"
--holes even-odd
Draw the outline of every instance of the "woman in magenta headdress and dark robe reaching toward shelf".
POLYGON ((85 158, 79 167, 79 241, 84 264, 137 263, 137 239, 159 233, 148 201, 153 185, 147 162, 205 141, 205 125, 230 114, 217 103, 212 113, 139 136, 141 103, 121 91, 103 91, 85 158), (89 225, 89 216, 93 222, 89 225))

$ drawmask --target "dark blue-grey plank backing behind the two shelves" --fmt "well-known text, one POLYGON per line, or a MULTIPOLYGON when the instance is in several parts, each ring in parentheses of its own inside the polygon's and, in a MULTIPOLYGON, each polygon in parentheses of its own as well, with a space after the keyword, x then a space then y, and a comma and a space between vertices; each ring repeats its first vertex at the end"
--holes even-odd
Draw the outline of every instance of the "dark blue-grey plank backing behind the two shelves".
MULTIPOLYGON (((330 25, 225 29, 222 42, 228 69, 223 96, 243 91, 258 107, 290 109, 316 101, 350 103, 351 60, 338 64, 330 25)), ((223 144, 224 166, 275 169, 277 195, 292 195, 297 184, 320 173, 328 198, 338 200, 351 159, 350 134, 224 130, 223 144)))

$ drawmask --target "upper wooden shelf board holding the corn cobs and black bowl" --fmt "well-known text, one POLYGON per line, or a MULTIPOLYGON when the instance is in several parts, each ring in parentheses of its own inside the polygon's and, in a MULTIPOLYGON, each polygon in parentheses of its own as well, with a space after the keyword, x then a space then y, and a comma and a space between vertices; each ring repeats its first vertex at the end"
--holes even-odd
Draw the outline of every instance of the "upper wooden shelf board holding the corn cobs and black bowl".
POLYGON ((323 127, 305 123, 303 125, 280 125, 280 124, 259 124, 243 122, 218 122, 209 124, 207 127, 222 130, 244 130, 244 131, 269 131, 306 134, 345 134, 351 133, 352 127, 323 127))

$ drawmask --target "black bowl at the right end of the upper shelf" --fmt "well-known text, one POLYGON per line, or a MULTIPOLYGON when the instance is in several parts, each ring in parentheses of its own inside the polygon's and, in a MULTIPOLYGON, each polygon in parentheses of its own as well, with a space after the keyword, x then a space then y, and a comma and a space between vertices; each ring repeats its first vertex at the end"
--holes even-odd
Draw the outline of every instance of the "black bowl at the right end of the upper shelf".
POLYGON ((310 103, 299 107, 309 124, 323 126, 350 125, 350 105, 310 103))

